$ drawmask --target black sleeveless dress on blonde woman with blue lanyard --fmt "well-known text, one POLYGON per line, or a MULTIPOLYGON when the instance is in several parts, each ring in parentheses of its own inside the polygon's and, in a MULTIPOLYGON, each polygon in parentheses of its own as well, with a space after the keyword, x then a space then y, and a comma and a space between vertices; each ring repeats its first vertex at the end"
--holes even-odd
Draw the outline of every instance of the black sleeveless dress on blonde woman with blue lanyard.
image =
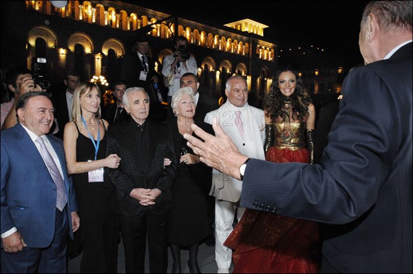
MULTIPOLYGON (((101 122, 101 121, 100 121, 101 122)), ((103 122, 101 122, 103 123, 103 122)), ((76 123, 75 123, 76 124, 76 123)), ((78 129, 78 125, 76 125, 78 129)), ((107 132, 100 140, 96 160, 106 158, 107 132)), ((96 142, 96 140, 95 140, 96 142)), ((78 129, 76 161, 94 160, 95 147, 78 129)), ((88 173, 72 175, 81 226, 74 233, 75 246, 82 246, 81 273, 113 273, 117 271, 118 217, 109 206, 114 185, 104 171, 103 182, 89 182, 88 173)))

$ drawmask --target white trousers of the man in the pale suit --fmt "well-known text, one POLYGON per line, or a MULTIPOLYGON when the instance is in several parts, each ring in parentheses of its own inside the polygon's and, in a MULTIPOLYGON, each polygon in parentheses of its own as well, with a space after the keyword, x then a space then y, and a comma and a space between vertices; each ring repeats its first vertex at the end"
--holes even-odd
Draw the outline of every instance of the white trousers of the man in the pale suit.
POLYGON ((245 207, 240 207, 237 202, 228 202, 215 199, 215 261, 218 268, 231 266, 232 250, 224 246, 226 238, 233 231, 235 212, 240 221, 245 207))

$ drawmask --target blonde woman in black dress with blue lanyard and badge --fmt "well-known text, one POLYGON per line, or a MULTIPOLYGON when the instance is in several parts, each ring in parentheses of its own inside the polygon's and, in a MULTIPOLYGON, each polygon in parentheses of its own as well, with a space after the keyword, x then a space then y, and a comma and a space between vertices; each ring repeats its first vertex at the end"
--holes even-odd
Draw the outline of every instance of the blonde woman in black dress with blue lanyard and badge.
POLYGON ((118 220, 109 207, 115 192, 104 168, 117 168, 120 158, 116 154, 106 156, 107 126, 100 118, 98 86, 79 84, 63 145, 81 218, 81 228, 74 234, 74 246, 83 247, 81 273, 117 272, 118 220))

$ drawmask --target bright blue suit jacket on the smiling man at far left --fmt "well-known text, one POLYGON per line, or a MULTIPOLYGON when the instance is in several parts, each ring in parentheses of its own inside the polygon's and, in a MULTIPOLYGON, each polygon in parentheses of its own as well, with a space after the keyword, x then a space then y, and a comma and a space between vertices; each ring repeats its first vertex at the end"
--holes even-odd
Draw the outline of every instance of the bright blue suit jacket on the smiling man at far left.
MULTIPOLYGON (((67 216, 77 211, 72 179, 67 176, 63 142, 47 135, 63 169, 67 193, 67 216)), ((43 248, 54 236, 56 185, 32 139, 20 124, 1 131, 1 233, 13 226, 28 247, 43 248)))

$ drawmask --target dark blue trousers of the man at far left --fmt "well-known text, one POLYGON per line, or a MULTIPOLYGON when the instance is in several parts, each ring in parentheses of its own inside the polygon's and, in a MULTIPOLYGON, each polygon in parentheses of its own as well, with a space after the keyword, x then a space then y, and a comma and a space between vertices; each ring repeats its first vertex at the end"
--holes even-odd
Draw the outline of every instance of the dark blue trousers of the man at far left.
POLYGON ((66 209, 56 209, 52 244, 43 249, 25 247, 11 254, 1 249, 1 273, 67 273, 67 229, 66 209))

